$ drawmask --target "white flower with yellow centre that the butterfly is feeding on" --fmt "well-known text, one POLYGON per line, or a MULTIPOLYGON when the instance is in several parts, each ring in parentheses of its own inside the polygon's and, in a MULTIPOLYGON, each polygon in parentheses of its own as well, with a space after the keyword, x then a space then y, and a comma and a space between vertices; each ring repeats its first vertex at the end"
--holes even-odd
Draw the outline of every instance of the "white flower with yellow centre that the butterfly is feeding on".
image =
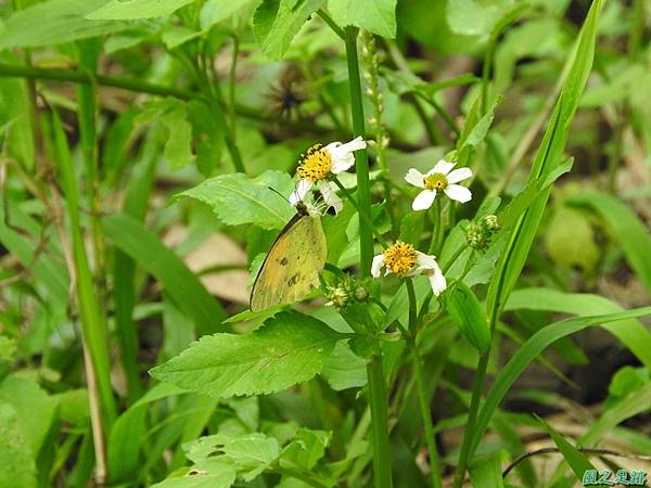
POLYGON ((323 195, 323 201, 334 211, 340 211, 343 202, 336 195, 334 188, 328 181, 330 175, 339 175, 348 170, 355 164, 355 151, 365 149, 366 141, 358 137, 350 142, 342 144, 332 142, 327 146, 321 144, 312 145, 303 156, 297 174, 299 177, 296 190, 290 195, 290 203, 296 206, 296 203, 303 201, 305 195, 316 185, 323 195))

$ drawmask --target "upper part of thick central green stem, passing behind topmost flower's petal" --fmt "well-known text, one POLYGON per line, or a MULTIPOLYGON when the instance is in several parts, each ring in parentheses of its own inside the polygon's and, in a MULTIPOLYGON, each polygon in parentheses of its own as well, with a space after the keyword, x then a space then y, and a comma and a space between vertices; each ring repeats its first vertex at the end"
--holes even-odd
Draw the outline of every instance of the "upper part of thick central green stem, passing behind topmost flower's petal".
MULTIPOLYGON (((353 113, 353 132, 355 137, 366 139, 363 105, 361 99, 361 80, 359 78, 359 61, 357 56, 356 27, 346 27, 346 61, 348 63, 348 81, 350 84, 350 111, 353 113)), ((371 274, 373 259, 373 231, 368 226, 371 215, 371 192, 369 182, 369 154, 366 149, 355 152, 355 169, 357 172, 357 203, 359 206, 359 257, 361 275, 371 274), (367 218, 362 217, 365 215, 367 218)))

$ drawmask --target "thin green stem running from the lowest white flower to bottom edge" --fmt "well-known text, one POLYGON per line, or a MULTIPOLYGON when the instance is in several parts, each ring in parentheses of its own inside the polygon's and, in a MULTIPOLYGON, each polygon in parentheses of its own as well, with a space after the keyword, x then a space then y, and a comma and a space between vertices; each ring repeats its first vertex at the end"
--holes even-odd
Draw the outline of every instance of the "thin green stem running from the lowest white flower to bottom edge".
POLYGON ((425 442, 427 444, 427 451, 430 453, 430 475, 432 477, 432 486, 434 488, 441 488, 441 463, 438 461, 438 451, 436 449, 436 438, 434 437, 434 424, 432 423, 432 415, 430 413, 429 396, 425 388, 425 381, 423 378, 423 365, 421 363, 417 343, 418 313, 416 292, 413 291, 413 282, 410 278, 405 279, 405 285, 407 286, 407 295, 409 297, 408 344, 411 348, 413 372, 416 373, 416 388, 418 390, 418 401, 420 404, 421 416, 423 419, 423 426, 425 427, 425 442))

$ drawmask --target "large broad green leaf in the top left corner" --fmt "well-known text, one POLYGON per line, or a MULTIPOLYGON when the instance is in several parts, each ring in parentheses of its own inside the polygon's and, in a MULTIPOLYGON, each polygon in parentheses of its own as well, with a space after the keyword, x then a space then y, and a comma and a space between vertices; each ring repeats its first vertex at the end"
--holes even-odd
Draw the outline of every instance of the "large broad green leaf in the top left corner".
POLYGON ((86 18, 105 1, 49 0, 15 12, 0 30, 0 50, 61 44, 126 28, 124 23, 86 18))

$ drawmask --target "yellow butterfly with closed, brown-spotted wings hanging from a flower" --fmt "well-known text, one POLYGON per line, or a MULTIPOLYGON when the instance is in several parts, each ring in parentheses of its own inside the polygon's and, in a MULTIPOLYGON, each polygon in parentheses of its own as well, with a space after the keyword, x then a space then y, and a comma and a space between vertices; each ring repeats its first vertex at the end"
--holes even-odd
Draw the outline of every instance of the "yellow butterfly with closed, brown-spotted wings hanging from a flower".
POLYGON ((250 307, 256 312, 293 304, 319 286, 328 248, 318 211, 296 204, 296 215, 280 231, 253 283, 250 307))

